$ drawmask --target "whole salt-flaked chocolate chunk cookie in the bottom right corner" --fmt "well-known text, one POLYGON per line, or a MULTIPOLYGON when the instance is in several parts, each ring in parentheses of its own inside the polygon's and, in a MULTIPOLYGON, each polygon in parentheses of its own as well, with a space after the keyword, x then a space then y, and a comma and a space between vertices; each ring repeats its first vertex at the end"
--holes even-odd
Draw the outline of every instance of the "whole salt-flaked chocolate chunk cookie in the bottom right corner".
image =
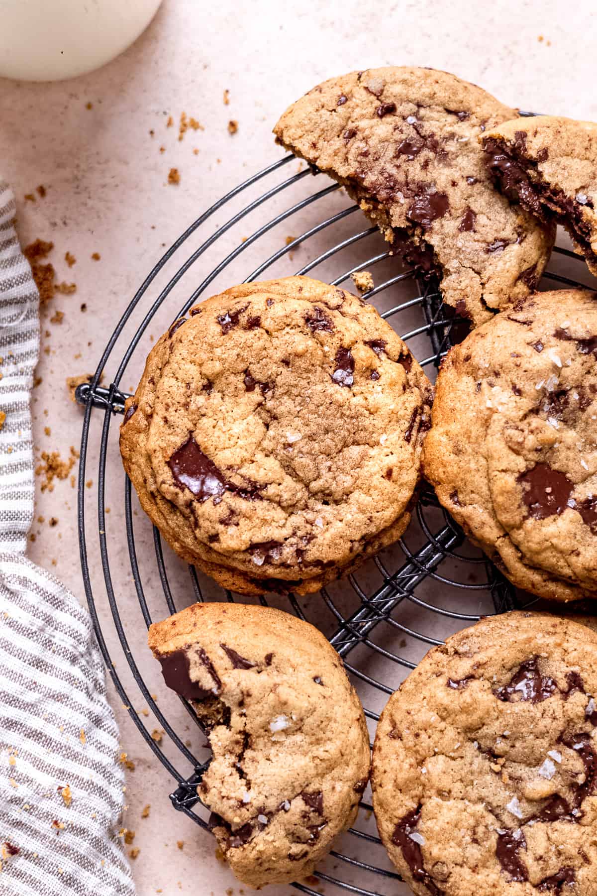
POLYGON ((485 619, 381 714, 373 807, 417 896, 597 894, 597 634, 485 619))

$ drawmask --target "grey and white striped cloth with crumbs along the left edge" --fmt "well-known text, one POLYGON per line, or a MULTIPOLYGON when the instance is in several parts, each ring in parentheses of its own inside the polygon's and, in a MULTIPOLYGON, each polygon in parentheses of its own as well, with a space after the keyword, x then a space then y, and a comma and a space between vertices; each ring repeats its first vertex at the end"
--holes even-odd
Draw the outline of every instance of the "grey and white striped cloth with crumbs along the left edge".
POLYGON ((25 556, 39 317, 14 211, 0 182, 0 894, 132 896, 118 729, 90 617, 25 556))

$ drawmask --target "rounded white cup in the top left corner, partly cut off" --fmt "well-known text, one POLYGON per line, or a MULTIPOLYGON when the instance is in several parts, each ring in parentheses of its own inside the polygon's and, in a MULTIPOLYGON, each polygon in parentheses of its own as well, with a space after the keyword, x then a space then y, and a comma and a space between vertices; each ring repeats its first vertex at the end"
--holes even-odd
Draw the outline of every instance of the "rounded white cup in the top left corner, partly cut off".
POLYGON ((161 0, 0 0, 0 76, 61 81, 105 65, 161 0))

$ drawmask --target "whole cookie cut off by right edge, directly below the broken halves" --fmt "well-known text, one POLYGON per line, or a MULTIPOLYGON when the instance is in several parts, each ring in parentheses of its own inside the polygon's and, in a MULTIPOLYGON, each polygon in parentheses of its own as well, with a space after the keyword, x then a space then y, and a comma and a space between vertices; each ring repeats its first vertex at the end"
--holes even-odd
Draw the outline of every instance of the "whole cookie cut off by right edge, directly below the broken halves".
POLYGON ((597 596, 597 303, 537 293, 451 349, 424 473, 520 588, 597 596))

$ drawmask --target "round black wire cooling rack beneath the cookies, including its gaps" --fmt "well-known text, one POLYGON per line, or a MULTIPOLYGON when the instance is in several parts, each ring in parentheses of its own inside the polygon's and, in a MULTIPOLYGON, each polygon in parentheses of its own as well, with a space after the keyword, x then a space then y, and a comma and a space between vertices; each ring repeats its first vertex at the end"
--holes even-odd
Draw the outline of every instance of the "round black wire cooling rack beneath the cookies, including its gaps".
MULTIPOLYGON (((146 631, 151 622, 194 600, 238 598, 193 567, 185 567, 169 548, 163 550, 158 530, 138 513, 131 483, 121 478, 114 425, 114 415, 123 413, 129 394, 123 388, 124 377, 138 379, 152 327, 158 327, 157 334, 166 330, 205 297, 212 284, 215 289, 217 284, 226 287, 264 275, 312 273, 338 285, 356 271, 371 271, 376 285, 365 297, 409 343, 431 378, 449 346, 467 330, 465 322, 442 306, 436 282, 419 280, 414 271, 402 269, 396 258, 389 257, 377 229, 362 228, 358 206, 347 204, 338 185, 313 168, 289 174, 295 164, 288 155, 249 177, 175 240, 117 323, 92 381, 77 389, 77 401, 85 409, 78 487, 81 568, 99 647, 132 721, 175 781, 173 805, 206 830, 207 811, 196 788, 209 756, 199 737, 193 744, 186 733, 190 716, 196 723, 192 707, 180 698, 162 710, 151 693, 152 673, 144 675, 141 667, 149 653, 146 631), (251 236, 241 236, 252 226, 251 236), (289 227, 300 235, 285 238, 289 227), (190 246, 191 253, 181 263, 180 250, 190 246), (279 247, 268 254, 261 246, 279 247), (297 271, 293 271, 295 254, 303 262, 297 271), (247 263, 264 255, 254 268, 247 263), (100 384, 103 375, 109 376, 109 386, 100 384), (86 488, 93 470, 95 509, 93 493, 86 488), (164 731, 160 742, 149 733, 154 720, 146 725, 134 710, 141 697, 164 731)), ((582 260, 556 248, 542 287, 586 285, 576 279, 579 276, 590 283, 582 260)), ((299 599, 288 594, 259 600, 294 612, 327 634, 361 695, 372 737, 388 694, 430 646, 482 615, 528 606, 529 596, 516 592, 466 541, 432 491, 422 487, 411 526, 397 545, 320 596, 299 599)), ((156 690, 159 686, 153 685, 156 690)), ((197 724, 191 728, 199 732, 197 724)), ((397 883, 400 878, 388 864, 366 794, 361 806, 356 826, 322 863, 317 878, 360 896, 409 892, 397 883)), ((317 896, 316 885, 293 884, 311 896, 317 896)))

